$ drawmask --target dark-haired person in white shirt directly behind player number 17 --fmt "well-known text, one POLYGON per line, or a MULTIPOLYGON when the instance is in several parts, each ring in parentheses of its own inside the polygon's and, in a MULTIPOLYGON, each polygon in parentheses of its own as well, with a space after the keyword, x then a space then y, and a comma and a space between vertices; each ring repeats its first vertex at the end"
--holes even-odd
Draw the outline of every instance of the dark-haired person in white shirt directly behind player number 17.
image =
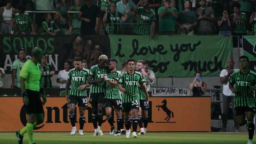
POLYGON ((152 70, 148 69, 149 61, 145 60, 144 63, 145 63, 145 66, 144 66, 145 71, 147 71, 147 74, 148 74, 147 92, 148 92, 148 95, 151 96, 152 88, 151 88, 150 84, 152 85, 156 82, 156 77, 155 77, 155 73, 152 70))

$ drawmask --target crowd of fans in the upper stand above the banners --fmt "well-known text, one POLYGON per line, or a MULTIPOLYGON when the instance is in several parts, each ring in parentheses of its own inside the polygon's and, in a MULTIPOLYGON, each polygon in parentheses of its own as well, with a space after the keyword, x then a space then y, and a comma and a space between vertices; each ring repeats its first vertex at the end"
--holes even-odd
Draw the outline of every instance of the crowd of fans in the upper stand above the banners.
POLYGON ((93 0, 16 3, 6 0, 0 8, 1 34, 54 36, 104 30, 151 38, 155 34, 256 35, 256 0, 102 0, 100 6, 93 0), (34 18, 26 10, 51 13, 36 13, 34 18))

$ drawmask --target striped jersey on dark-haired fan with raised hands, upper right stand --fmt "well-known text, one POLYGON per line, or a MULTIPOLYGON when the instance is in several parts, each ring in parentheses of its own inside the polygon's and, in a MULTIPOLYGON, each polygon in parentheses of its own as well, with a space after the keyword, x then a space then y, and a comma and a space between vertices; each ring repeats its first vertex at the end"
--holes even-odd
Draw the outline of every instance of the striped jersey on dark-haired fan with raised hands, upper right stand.
MULTIPOLYGON (((230 16, 231 21, 233 21, 235 16, 236 16, 235 13, 230 16)), ((244 21, 247 20, 245 13, 241 12, 239 14, 239 17, 242 18, 244 21)), ((237 32, 237 33, 245 33, 246 32, 245 25, 242 23, 242 21, 240 19, 239 20, 235 20, 235 23, 234 23, 234 26, 233 26, 233 31, 237 32)))

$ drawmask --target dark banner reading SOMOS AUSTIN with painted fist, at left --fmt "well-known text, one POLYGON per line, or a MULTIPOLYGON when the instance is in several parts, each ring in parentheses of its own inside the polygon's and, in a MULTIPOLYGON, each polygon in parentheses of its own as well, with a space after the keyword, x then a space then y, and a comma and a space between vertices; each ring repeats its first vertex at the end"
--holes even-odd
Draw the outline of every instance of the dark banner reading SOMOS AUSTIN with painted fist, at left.
POLYGON ((66 60, 72 61, 76 56, 82 57, 93 66, 101 54, 110 55, 109 39, 104 35, 1 35, 0 36, 0 67, 11 73, 12 63, 18 59, 20 49, 25 49, 27 58, 31 50, 40 47, 47 57, 47 63, 58 72, 64 69, 66 60))

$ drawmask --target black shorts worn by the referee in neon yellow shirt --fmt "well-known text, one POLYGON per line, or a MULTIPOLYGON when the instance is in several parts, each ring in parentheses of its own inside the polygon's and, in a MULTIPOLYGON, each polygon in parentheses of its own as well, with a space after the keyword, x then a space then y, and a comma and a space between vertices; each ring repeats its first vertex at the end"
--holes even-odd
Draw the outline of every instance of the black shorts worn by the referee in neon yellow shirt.
POLYGON ((43 102, 40 99, 39 91, 26 90, 28 93, 29 104, 26 106, 27 114, 40 114, 45 113, 43 102))

